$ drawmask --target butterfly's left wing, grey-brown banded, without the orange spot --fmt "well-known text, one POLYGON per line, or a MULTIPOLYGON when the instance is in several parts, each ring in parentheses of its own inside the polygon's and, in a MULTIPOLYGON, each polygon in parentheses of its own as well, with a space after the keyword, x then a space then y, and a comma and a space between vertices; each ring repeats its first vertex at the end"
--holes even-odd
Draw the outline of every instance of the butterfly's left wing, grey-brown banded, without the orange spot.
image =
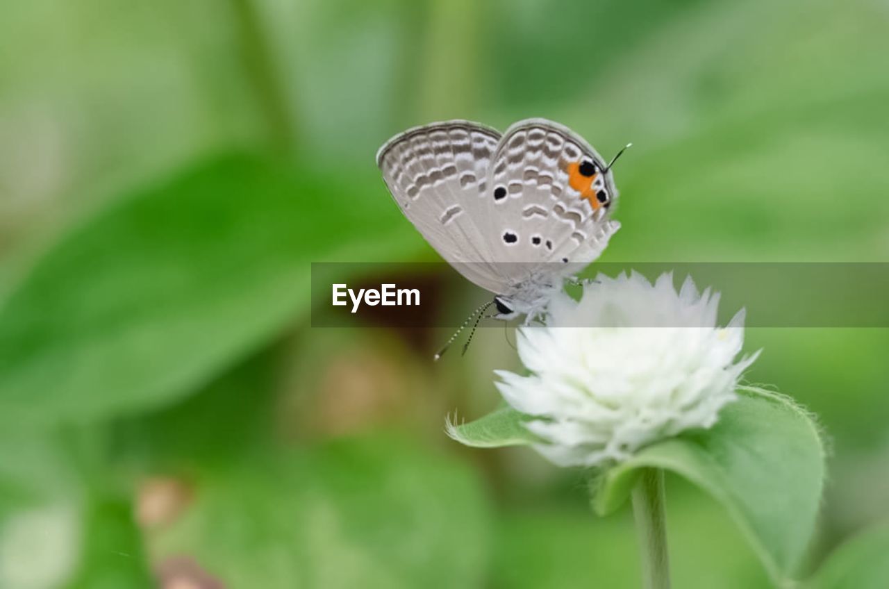
POLYGON ((495 294, 504 282, 485 235, 485 182, 500 138, 485 125, 453 120, 408 129, 377 152, 404 216, 463 276, 495 294))

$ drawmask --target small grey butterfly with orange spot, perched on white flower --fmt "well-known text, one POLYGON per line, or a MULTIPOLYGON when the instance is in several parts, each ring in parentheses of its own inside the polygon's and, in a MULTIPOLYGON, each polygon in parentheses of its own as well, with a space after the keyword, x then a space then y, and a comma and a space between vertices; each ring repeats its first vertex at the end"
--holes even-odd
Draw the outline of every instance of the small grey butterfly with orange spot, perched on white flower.
POLYGON ((530 118, 503 134, 464 120, 414 127, 376 159, 429 245, 494 294, 495 318, 524 314, 527 323, 621 227, 610 218, 611 165, 621 153, 606 165, 568 127, 530 118))

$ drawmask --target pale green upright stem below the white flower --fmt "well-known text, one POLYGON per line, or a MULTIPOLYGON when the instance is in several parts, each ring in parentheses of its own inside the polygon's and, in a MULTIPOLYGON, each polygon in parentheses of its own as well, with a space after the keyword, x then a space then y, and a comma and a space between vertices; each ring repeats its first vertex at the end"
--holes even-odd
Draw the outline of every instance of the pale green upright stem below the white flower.
POLYGON ((642 551, 645 589, 669 589, 667 526, 664 512, 664 473, 646 468, 633 489, 633 517, 642 551))

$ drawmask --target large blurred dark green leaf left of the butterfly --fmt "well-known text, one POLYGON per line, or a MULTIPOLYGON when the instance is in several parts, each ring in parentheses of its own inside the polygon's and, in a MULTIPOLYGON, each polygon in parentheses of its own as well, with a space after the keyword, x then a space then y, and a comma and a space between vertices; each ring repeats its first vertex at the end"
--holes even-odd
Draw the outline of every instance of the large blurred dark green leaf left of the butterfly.
POLYGON ((308 310, 309 262, 404 259, 409 244, 421 239, 377 178, 247 156, 188 169, 72 230, 10 294, 0 416, 169 403, 308 310))

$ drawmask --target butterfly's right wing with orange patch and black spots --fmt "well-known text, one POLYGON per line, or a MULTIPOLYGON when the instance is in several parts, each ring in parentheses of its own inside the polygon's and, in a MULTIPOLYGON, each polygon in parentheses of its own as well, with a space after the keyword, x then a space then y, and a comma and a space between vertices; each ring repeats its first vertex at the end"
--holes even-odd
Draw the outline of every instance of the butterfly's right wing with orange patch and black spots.
POLYGON ((486 189, 497 220, 487 248, 503 262, 571 262, 578 269, 621 226, 609 219, 617 190, 602 157, 546 119, 509 127, 494 150, 486 189))

